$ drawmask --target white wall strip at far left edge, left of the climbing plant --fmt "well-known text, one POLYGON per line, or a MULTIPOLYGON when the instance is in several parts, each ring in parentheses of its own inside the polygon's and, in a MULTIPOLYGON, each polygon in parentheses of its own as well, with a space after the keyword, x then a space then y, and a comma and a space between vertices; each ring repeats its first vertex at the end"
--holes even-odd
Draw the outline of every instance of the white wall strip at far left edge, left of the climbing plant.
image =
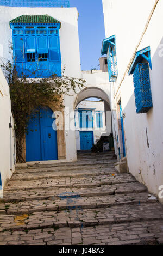
POLYGON ((2 186, 15 170, 15 134, 11 114, 9 86, 0 69, 0 173, 2 186), (12 128, 9 128, 11 119, 12 128))

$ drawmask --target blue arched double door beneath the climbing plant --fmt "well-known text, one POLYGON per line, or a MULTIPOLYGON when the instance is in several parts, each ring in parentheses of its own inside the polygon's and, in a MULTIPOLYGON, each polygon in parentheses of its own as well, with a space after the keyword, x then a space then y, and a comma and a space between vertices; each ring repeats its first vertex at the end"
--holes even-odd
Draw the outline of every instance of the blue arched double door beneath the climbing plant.
POLYGON ((26 134, 26 161, 57 160, 57 131, 53 111, 39 108, 31 115, 26 134), (53 127, 52 127, 53 126, 53 127))

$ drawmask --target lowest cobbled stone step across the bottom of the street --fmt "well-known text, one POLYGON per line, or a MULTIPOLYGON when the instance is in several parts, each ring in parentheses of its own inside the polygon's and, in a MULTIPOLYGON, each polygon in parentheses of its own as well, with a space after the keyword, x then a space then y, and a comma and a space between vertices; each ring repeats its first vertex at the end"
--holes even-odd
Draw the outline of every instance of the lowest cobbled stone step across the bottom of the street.
POLYGON ((0 245, 159 245, 162 220, 96 225, 93 227, 49 227, 4 231, 0 245))

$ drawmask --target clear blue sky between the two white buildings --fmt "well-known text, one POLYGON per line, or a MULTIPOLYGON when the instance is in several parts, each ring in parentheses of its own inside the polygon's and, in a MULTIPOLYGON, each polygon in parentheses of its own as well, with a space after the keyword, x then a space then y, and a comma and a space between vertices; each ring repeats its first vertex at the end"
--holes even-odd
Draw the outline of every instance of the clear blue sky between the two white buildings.
POLYGON ((79 44, 82 70, 99 69, 102 40, 105 38, 102 0, 70 0, 79 12, 79 44))

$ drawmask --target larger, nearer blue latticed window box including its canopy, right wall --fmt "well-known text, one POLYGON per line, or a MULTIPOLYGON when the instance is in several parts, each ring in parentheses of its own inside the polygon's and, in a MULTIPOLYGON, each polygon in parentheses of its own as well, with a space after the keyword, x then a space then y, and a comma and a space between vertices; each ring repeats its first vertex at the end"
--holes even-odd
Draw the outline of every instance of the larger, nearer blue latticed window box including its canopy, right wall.
POLYGON ((147 113, 153 106, 149 67, 152 69, 150 47, 136 52, 128 74, 133 74, 136 113, 147 113), (149 64, 148 64, 149 63, 149 64))

